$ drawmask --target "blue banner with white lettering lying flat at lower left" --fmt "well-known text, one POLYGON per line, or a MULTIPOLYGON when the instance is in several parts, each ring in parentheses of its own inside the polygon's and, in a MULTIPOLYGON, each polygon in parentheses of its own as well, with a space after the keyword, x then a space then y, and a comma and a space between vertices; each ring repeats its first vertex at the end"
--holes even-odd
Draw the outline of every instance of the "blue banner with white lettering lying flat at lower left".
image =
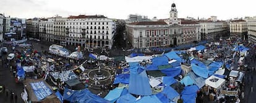
POLYGON ((52 94, 51 90, 43 82, 30 83, 38 101, 52 94))

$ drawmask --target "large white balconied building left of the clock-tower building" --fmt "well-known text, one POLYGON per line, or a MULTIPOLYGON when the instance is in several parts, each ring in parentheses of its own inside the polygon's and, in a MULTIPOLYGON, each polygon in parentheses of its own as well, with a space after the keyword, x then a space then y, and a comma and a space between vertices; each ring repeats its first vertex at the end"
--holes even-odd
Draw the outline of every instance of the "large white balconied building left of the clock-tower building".
POLYGON ((112 48, 116 23, 103 15, 40 20, 40 39, 85 48, 112 48))

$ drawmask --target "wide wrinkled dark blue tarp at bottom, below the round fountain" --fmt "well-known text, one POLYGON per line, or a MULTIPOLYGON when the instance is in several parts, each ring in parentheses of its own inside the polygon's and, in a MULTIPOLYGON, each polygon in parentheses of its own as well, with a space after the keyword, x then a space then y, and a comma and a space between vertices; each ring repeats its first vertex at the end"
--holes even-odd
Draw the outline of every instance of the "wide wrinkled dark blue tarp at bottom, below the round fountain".
POLYGON ((88 89, 84 90, 69 90, 65 88, 64 90, 64 100, 70 102, 83 102, 83 103, 109 103, 106 99, 102 97, 96 96, 95 94, 91 93, 88 89))

